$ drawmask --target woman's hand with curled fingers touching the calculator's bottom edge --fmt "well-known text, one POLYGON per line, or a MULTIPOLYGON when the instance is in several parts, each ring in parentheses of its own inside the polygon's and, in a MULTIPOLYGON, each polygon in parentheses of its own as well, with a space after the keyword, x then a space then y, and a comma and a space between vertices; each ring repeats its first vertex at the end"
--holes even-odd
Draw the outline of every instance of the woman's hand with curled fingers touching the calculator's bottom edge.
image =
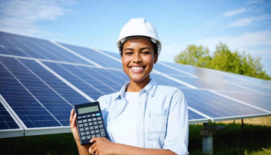
POLYGON ((107 138, 98 138, 98 137, 93 137, 90 140, 91 147, 89 148, 89 153, 99 155, 111 155, 111 154, 116 154, 116 151, 120 150, 118 149, 118 144, 113 143, 109 141, 107 138), (95 143, 94 143, 95 142, 95 143))

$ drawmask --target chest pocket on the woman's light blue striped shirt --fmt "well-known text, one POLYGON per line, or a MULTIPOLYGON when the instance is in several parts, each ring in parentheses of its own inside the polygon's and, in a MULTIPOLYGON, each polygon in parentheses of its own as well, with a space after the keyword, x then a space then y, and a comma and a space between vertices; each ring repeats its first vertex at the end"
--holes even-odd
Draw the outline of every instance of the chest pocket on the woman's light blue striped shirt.
POLYGON ((167 129, 168 109, 152 109, 149 112, 148 140, 164 140, 167 129))

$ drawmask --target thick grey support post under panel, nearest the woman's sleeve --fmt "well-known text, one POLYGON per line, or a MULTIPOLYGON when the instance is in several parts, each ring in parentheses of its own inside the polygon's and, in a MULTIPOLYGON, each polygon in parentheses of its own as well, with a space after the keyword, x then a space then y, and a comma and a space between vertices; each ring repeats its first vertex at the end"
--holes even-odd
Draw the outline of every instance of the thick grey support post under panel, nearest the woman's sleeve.
POLYGON ((213 135, 216 134, 216 129, 208 128, 207 123, 203 123, 204 128, 201 129, 202 135, 202 150, 204 155, 213 153, 213 135))

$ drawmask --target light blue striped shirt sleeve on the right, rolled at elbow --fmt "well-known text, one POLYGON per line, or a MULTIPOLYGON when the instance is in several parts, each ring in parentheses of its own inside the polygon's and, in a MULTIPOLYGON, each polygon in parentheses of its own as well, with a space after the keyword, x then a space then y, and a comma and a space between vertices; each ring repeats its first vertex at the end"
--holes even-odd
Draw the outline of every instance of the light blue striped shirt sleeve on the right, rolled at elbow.
POLYGON ((185 96, 177 90, 171 99, 163 149, 188 154, 188 109, 185 96))

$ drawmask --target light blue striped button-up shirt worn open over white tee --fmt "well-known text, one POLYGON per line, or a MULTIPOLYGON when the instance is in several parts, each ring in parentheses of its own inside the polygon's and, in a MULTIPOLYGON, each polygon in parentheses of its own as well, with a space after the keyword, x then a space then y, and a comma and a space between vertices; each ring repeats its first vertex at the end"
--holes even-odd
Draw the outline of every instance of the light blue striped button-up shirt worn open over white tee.
MULTIPOLYGON (((101 96, 97 100, 109 140, 112 138, 111 123, 125 107, 123 94, 128 86, 129 83, 126 83, 120 92, 101 96)), ((136 117, 138 147, 163 148, 178 155, 188 154, 188 110, 181 90, 157 85, 151 78, 139 92, 136 117)))

